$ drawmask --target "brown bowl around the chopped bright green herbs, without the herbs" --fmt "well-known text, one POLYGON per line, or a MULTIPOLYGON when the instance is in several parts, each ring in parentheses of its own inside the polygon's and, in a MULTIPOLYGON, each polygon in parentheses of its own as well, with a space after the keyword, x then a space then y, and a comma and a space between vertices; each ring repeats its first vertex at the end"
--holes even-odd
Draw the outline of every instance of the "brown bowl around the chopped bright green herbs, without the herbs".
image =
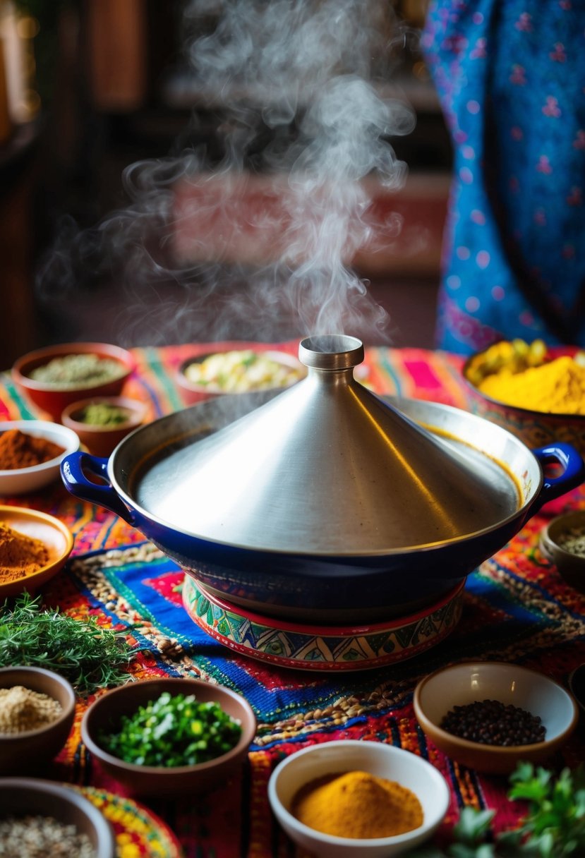
POLYGON ((133 795, 190 795, 211 789, 237 770, 248 754, 250 742, 256 734, 256 717, 250 704, 236 692, 224 686, 190 679, 163 677, 141 680, 106 692, 86 710, 81 721, 81 739, 98 760, 103 770, 133 795), (133 715, 139 706, 156 700, 162 692, 194 694, 198 701, 220 704, 232 718, 242 725, 238 744, 221 757, 197 765, 162 766, 125 763, 104 750, 100 734, 118 728, 120 718, 133 715))

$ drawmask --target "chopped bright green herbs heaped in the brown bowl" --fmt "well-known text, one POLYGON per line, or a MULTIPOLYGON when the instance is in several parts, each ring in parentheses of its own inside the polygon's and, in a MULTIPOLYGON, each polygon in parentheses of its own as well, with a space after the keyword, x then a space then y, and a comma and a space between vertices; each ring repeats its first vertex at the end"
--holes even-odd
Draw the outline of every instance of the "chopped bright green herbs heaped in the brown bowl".
POLYGON ((206 763, 231 751, 242 728, 220 704, 195 695, 163 692, 160 698, 123 716, 118 732, 103 733, 100 744, 126 763, 178 765, 206 763))

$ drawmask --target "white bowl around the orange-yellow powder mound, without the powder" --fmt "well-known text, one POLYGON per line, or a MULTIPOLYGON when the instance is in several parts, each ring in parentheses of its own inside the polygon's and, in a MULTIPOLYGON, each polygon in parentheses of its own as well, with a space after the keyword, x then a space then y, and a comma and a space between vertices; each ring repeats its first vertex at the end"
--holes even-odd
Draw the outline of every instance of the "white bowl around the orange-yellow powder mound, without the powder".
POLYGON ((286 834, 319 858, 386 858, 431 837, 447 813, 449 787, 440 771, 416 754, 382 742, 348 739, 311 745, 279 763, 268 781, 268 800, 286 834), (333 837, 309 828, 290 813, 293 798, 305 783, 344 771, 366 771, 410 789, 422 806, 423 824, 395 837, 333 837))

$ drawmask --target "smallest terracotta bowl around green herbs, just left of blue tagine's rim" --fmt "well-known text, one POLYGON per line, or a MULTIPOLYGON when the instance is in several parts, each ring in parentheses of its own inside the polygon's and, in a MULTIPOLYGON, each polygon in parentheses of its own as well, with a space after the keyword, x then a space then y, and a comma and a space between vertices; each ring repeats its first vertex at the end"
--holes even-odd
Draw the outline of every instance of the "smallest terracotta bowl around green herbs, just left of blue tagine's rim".
POLYGON ((147 406, 145 402, 137 399, 129 399, 124 396, 93 396, 82 399, 80 402, 71 402, 64 408, 61 415, 63 426, 69 426, 80 438, 81 444, 93 456, 109 456, 112 450, 118 446, 122 438, 134 432, 146 417, 147 406), (99 426, 81 420, 83 411, 88 405, 106 405, 113 408, 122 408, 128 414, 128 419, 123 423, 112 424, 112 426, 99 426))

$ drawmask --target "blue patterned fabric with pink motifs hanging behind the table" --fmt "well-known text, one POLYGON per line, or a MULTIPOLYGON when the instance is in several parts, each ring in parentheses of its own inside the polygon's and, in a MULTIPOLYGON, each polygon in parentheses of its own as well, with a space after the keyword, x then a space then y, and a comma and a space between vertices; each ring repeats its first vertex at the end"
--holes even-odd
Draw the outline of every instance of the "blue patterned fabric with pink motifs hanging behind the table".
POLYGON ((454 144, 437 346, 585 345, 585 3, 433 0, 454 144))

